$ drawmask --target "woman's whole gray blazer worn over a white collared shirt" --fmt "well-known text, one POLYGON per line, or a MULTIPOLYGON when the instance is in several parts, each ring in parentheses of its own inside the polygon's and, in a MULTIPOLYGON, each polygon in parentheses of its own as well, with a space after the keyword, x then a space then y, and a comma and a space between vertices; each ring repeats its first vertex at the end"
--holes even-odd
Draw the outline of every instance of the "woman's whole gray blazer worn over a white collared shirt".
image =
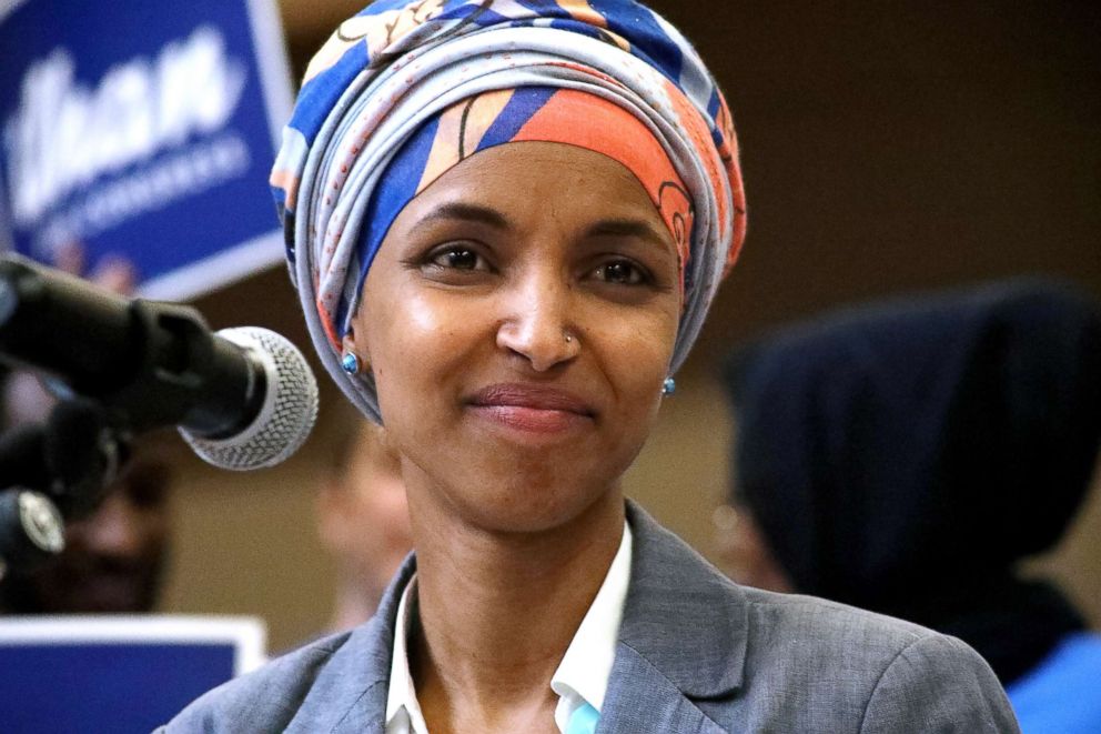
MULTIPOLYGON (((630 586, 597 732, 1019 732, 954 637, 809 596, 738 586, 628 502, 630 586)), ((205 694, 163 732, 382 734, 394 617, 378 613, 205 694)))

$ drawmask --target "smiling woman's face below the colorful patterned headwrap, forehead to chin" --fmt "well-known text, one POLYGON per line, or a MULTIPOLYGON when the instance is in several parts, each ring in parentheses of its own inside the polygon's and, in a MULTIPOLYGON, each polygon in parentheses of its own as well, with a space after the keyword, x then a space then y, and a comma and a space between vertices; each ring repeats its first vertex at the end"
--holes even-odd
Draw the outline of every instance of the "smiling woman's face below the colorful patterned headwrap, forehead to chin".
POLYGON ((414 507, 537 532, 618 491, 679 314, 673 240, 637 179, 525 142, 479 152, 405 207, 349 341, 414 507))

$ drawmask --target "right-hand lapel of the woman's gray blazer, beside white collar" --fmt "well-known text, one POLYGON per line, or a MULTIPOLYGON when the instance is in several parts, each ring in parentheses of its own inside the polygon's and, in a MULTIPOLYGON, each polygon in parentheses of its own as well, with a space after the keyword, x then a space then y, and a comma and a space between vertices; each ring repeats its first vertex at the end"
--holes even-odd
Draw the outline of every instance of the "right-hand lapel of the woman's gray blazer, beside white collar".
POLYGON ((630 586, 597 732, 723 732, 695 701, 741 686, 744 593, 630 501, 627 520, 630 586))

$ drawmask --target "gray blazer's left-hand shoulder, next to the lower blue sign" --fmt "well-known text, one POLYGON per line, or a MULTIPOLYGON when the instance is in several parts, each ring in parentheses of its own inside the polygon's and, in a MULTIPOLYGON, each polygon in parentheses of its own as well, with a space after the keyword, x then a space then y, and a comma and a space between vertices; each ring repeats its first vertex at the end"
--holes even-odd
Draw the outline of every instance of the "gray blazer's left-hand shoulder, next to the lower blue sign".
POLYGON ((276 657, 204 693, 158 732, 281 731, 347 642, 343 632, 276 657))

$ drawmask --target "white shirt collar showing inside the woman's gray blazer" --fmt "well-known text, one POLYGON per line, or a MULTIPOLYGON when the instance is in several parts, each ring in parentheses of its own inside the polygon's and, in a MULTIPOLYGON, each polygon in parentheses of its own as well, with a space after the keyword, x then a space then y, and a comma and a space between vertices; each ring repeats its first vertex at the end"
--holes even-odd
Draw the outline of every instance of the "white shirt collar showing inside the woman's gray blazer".
MULTIPOLYGON (((624 522, 623 540, 612 560, 608 573, 596 597, 585 613, 574 639, 566 648, 558 668, 550 676, 550 690, 558 694, 554 721, 559 732, 574 712, 589 704, 597 712, 603 710, 604 695, 616 656, 616 641, 623 607, 627 601, 630 581, 630 527, 624 522)), ((416 576, 410 580, 397 604, 394 624, 394 655, 390 664, 390 691, 386 696, 386 734, 428 734, 421 705, 413 688, 408 655, 405 646, 408 630, 410 599, 416 591, 416 576)))

